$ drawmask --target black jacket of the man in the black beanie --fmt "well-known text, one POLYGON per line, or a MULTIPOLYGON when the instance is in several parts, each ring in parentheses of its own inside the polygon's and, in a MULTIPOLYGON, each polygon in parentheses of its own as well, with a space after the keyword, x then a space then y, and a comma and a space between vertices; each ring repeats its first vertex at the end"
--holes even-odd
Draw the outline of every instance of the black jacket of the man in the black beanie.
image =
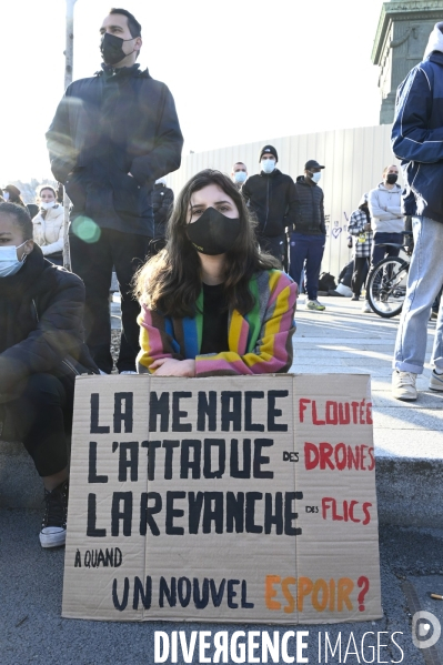
POLYGON ((242 194, 259 222, 258 235, 275 238, 285 233, 295 221, 295 184, 279 169, 272 173, 251 175, 242 187, 242 194))

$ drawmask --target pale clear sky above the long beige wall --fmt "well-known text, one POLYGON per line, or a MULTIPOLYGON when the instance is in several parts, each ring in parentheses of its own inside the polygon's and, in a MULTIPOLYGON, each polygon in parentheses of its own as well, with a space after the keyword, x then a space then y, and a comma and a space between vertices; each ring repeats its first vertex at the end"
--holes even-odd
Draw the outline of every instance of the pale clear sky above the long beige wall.
MULTIPOLYGON (((141 67, 174 95, 183 154, 379 124, 371 51, 382 0, 120 1, 142 24, 141 67)), ((110 7, 77 0, 74 79, 100 69, 110 7)), ((0 42, 0 185, 50 177, 44 132, 64 82, 66 2, 13 8, 20 21, 0 42)))

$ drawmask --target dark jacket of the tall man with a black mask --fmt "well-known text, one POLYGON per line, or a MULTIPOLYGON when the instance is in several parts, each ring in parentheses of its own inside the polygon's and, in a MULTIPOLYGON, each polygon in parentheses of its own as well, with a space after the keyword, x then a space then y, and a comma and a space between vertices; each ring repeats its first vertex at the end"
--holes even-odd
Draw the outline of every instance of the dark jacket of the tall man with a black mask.
POLYGON ((151 191, 158 178, 180 167, 183 145, 164 83, 138 66, 104 67, 68 87, 47 140, 52 173, 66 185, 73 216, 152 236, 151 191))

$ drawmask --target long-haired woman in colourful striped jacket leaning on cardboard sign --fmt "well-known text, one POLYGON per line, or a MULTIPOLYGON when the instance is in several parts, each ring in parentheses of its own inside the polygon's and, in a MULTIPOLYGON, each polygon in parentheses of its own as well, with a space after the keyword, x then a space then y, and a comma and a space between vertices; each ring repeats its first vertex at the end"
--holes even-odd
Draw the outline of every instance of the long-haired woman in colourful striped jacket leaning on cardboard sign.
POLYGON ((242 195, 219 171, 181 191, 165 249, 139 272, 139 372, 288 372, 296 284, 261 254, 242 195))

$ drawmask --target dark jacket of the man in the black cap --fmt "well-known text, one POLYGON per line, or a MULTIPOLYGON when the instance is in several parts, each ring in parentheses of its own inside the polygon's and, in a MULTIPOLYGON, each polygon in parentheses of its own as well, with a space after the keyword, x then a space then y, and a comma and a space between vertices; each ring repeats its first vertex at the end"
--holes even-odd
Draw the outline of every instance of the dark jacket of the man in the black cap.
POLYGON ((295 181, 295 228, 296 233, 325 235, 324 195, 318 184, 311 184, 304 175, 295 181))

